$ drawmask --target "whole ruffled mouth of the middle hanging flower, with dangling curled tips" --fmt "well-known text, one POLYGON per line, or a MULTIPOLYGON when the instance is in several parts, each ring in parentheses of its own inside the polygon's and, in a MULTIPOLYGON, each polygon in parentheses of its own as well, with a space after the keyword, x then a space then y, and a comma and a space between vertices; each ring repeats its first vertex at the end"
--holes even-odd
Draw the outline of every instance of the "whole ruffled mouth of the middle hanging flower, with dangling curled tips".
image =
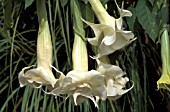
POLYGON ((95 70, 88 72, 72 70, 60 83, 56 84, 58 85, 50 94, 55 96, 68 94, 68 97, 73 97, 76 105, 89 98, 98 107, 93 96, 106 99, 104 76, 95 70))

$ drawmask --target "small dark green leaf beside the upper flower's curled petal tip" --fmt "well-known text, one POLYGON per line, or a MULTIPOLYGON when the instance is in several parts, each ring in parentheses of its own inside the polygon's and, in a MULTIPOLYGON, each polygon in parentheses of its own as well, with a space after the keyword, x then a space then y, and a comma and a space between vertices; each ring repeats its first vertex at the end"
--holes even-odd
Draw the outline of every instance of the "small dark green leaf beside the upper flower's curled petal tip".
POLYGON ((134 24, 135 24, 135 20, 136 20, 135 8, 133 8, 133 6, 130 6, 130 7, 128 7, 128 10, 132 13, 132 16, 126 17, 127 24, 129 26, 129 29, 134 32, 134 24))

